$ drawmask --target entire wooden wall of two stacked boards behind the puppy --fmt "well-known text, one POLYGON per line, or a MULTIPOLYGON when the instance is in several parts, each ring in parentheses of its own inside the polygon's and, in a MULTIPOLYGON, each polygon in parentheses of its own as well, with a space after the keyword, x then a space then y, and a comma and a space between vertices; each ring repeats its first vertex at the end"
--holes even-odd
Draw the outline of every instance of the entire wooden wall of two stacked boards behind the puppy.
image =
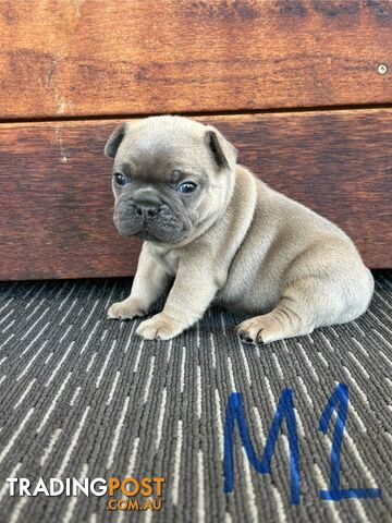
POLYGON ((0 279, 132 275, 105 142, 185 113, 392 266, 390 0, 0 3, 0 279))

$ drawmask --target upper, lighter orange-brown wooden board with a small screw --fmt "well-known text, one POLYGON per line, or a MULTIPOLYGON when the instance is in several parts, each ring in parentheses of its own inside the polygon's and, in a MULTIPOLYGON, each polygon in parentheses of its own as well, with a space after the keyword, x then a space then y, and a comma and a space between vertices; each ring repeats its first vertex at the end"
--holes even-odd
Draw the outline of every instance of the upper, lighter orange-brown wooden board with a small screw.
POLYGON ((390 0, 4 0, 0 118, 391 102, 391 49, 390 0))

